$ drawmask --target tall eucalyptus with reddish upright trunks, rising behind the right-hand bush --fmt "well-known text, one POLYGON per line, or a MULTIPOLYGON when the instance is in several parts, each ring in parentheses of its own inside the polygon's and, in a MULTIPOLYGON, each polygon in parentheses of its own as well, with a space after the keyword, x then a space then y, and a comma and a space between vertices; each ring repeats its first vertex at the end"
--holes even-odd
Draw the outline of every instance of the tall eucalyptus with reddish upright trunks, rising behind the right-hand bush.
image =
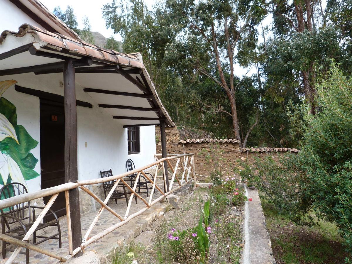
MULTIPOLYGON (((331 59, 346 61, 341 46, 341 30, 329 18, 340 18, 348 25, 345 10, 339 1, 329 0, 324 9, 320 0, 293 0, 268 2, 273 15, 273 37, 268 41, 263 71, 269 92, 276 100, 283 100, 287 90, 296 90, 310 105, 310 114, 316 113, 317 75, 329 70, 331 59)), ((345 1, 347 2, 347 1, 345 1)), ((345 10, 346 11, 346 10, 345 10)))

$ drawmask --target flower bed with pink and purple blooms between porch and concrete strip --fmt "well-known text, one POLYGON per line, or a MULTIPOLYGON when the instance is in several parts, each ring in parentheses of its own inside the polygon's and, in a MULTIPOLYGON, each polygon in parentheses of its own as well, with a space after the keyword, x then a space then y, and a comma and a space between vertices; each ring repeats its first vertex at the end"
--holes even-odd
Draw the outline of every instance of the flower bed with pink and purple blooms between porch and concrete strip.
MULTIPOLYGON (((237 189, 234 181, 232 185, 237 189)), ((236 195, 222 191, 219 187, 194 189, 182 199, 181 209, 168 207, 164 218, 117 252, 112 263, 239 263, 243 211, 237 197, 243 199, 243 191, 236 190, 236 195), (201 253, 200 239, 208 247, 206 254, 201 253)))

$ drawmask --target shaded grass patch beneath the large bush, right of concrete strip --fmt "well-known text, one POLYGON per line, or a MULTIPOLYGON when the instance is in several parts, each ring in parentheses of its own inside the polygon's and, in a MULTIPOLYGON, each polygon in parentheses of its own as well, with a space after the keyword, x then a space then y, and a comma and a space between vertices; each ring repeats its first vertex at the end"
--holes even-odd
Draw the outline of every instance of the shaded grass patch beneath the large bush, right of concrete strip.
POLYGON ((277 263, 344 263, 347 253, 334 224, 319 220, 315 227, 295 226, 264 199, 262 207, 277 263))

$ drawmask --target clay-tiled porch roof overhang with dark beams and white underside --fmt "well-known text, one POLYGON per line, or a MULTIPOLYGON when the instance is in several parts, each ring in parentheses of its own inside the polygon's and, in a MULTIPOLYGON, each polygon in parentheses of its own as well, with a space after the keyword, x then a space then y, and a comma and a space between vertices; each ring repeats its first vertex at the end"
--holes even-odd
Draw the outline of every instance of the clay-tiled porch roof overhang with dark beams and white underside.
POLYGON ((76 83, 120 124, 174 126, 139 53, 123 54, 23 24, 0 35, 0 76, 63 72, 75 60, 76 83))

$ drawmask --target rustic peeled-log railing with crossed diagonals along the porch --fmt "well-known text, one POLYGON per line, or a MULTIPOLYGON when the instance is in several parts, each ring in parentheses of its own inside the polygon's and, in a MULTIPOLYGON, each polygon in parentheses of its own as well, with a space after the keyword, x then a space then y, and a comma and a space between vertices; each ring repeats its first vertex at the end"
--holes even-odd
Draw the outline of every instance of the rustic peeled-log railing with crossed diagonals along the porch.
MULTIPOLYGON (((11 244, 15 244, 17 245, 17 248, 14 250, 14 252, 12 253, 12 255, 10 256, 10 258, 8 258, 8 260, 6 261, 6 264, 11 264, 15 258, 17 257, 17 255, 19 254, 19 252, 21 251, 22 247, 25 247, 27 249, 30 250, 34 250, 38 253, 42 253, 45 254, 47 256, 53 257, 58 259, 60 262, 65 262, 68 259, 70 259, 71 257, 75 256, 75 254, 77 254, 78 252, 80 252, 81 250, 83 250, 85 247, 87 247, 88 245, 92 244, 93 242, 95 242, 98 239, 101 239, 102 237, 104 237, 105 235, 111 233, 112 231, 114 231, 115 229, 119 228, 120 226, 125 225, 127 222, 131 221, 133 218, 137 217, 138 215, 142 214, 143 212, 145 212, 147 209, 149 209, 151 206, 155 205, 155 203, 159 202, 161 199, 163 199, 163 197, 169 195, 170 193, 172 193, 173 191, 181 188, 182 186, 184 186, 185 184, 194 181, 194 186, 196 186, 196 176, 195 176, 195 166, 194 166, 194 153, 190 153, 190 154, 183 154, 183 155, 168 155, 168 157, 166 158, 161 158, 161 155, 155 155, 156 161, 146 165, 144 167, 132 170, 132 171, 128 171, 116 176, 111 176, 111 177, 105 177, 105 178, 98 178, 98 179, 94 179, 94 180, 85 180, 85 181, 77 181, 77 182, 69 182, 69 183, 64 183, 58 186, 54 186, 54 187, 50 187, 47 189, 43 189, 43 190, 38 190, 38 191, 34 191, 33 193, 27 193, 27 194, 23 194, 23 195, 19 195, 19 196, 14 196, 5 200, 0 200, 0 208, 7 208, 10 206, 14 206, 17 205, 19 203, 25 203, 25 202, 29 202, 31 200, 34 199, 38 199, 41 197, 45 197, 45 196, 49 196, 52 195, 50 200, 48 201, 48 203, 46 204, 46 206, 44 207, 44 209, 42 210, 42 212, 39 214, 39 216, 37 217, 37 219, 34 221, 32 227, 28 230, 28 232, 25 234, 24 238, 22 240, 16 239, 16 238, 12 238, 8 235, 5 234, 0 234, 0 239, 4 240, 8 243, 11 244), (159 158, 158 158, 159 157, 159 158), (171 165, 171 160, 176 160, 176 165, 175 167, 173 167, 171 165), (164 168, 164 161, 167 162, 168 167, 171 169, 172 171, 172 177, 169 181, 169 191, 163 191, 157 184, 158 179, 162 178, 164 186, 166 186, 166 177, 165 177, 165 168, 164 168), (180 165, 180 168, 179 168, 180 165), (154 181, 147 176, 143 171, 152 168, 153 166, 155 167, 155 175, 154 175, 154 181), (160 168, 159 168, 160 166, 160 168), (163 176, 158 176, 158 171, 162 170, 163 171, 163 176), (182 172, 182 177, 181 180, 180 178, 177 176, 177 174, 179 174, 180 172, 182 172), (124 180, 125 177, 137 173, 137 178, 139 179, 140 175, 142 174, 148 181, 151 182, 151 184, 153 184, 153 187, 151 189, 150 192, 150 197, 149 197, 149 201, 145 200, 142 196, 140 196, 137 192, 136 192, 136 187, 137 187, 137 178, 136 181, 134 182, 134 186, 133 188, 124 180), (186 175, 187 173, 187 175, 186 175), (192 173, 192 177, 190 176, 190 173, 192 173), (174 180, 176 178, 177 181, 177 186, 174 187, 174 180), (94 193, 92 193, 91 190, 89 190, 88 188, 84 187, 87 185, 91 185, 91 184, 99 184, 102 182, 107 182, 107 181, 116 181, 114 183, 113 188, 111 189, 111 191, 109 192, 109 194, 106 196, 106 199, 104 201, 102 201, 97 195, 95 195, 94 193), (109 207, 107 205, 110 196, 113 194, 113 191, 115 190, 115 188, 118 186, 118 184, 122 182, 130 191, 131 191, 131 196, 130 196, 130 200, 128 201, 128 206, 126 209, 126 213, 124 216, 119 215, 117 212, 115 212, 111 207, 109 207), (77 247, 76 249, 73 249, 73 243, 72 243, 72 232, 71 232, 71 219, 70 219, 70 203, 69 203, 69 192, 68 190, 74 189, 74 188, 81 188, 83 191, 85 191, 86 193, 88 193, 90 196, 92 196, 96 201, 98 201, 98 203, 100 203, 101 207, 98 211, 98 213, 96 214, 92 224, 90 224, 86 234, 84 235, 83 239, 82 239, 82 244, 77 247), (153 200, 153 193, 154 190, 157 189, 161 195, 153 200), (48 210, 50 209, 50 207, 52 206, 52 204, 54 203, 55 199, 57 198, 58 194, 61 193, 62 191, 65 192, 65 200, 66 200, 66 210, 67 210, 67 227, 68 227, 68 241, 69 241, 69 254, 67 256, 61 256, 55 252, 52 251, 48 251, 45 249, 42 249, 36 245, 30 244, 29 243, 29 238, 31 237, 31 235, 33 234, 33 232, 36 230, 36 228, 38 227, 38 225, 40 224, 40 222, 42 222, 45 214, 48 212, 48 210), (136 195, 138 199, 142 200, 145 203, 145 207, 143 207, 142 209, 140 209, 138 212, 135 212, 133 214, 130 214, 130 209, 132 206, 132 200, 133 200, 133 196, 136 195), (95 227, 96 223, 99 220, 100 215, 102 214, 103 210, 106 209, 108 210, 110 213, 112 213, 114 216, 116 216, 120 221, 117 222, 115 225, 112 225, 108 228, 106 228, 105 230, 99 232, 98 234, 93 235, 92 237, 89 237, 90 233, 92 232, 93 228, 95 227)), ((168 168, 166 168, 168 169, 168 168)), ((84 217, 84 216, 83 216, 84 217)))

